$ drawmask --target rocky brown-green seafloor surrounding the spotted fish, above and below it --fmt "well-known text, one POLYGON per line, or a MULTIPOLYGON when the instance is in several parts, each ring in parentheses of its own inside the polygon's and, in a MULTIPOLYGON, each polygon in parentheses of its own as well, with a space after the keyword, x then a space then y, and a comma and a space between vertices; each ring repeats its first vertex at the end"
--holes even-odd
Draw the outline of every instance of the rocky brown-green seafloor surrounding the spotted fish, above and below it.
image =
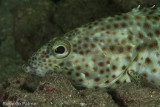
POLYGON ((61 73, 44 78, 22 64, 44 43, 98 18, 160 6, 159 0, 0 0, 0 107, 158 107, 160 91, 150 83, 122 84, 112 92, 77 90, 61 73))

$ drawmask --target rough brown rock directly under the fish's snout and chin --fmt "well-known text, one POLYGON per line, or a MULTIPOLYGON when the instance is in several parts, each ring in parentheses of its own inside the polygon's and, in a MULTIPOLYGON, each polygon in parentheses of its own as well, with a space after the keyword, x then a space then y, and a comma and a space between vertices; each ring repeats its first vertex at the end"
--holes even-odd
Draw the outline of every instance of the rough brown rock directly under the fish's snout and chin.
POLYGON ((76 90, 63 73, 49 72, 44 78, 35 78, 33 75, 24 76, 21 73, 17 78, 9 79, 9 84, 2 94, 3 102, 25 105, 50 106, 114 106, 112 97, 102 90, 76 90), (34 82, 34 79, 38 81, 34 82), (18 81, 18 82, 17 82, 18 81), (30 84, 29 84, 30 83, 30 84), (33 85, 31 85, 33 84, 33 85), (36 89, 33 86, 36 86, 36 89))

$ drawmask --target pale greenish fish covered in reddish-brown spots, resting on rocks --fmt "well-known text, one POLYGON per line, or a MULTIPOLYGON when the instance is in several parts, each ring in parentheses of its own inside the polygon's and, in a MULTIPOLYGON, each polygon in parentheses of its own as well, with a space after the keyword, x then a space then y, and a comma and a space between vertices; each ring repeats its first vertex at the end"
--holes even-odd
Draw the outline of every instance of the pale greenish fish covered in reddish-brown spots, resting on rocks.
POLYGON ((86 88, 116 88, 137 75, 160 88, 160 8, 134 8, 54 37, 23 68, 61 71, 86 88))

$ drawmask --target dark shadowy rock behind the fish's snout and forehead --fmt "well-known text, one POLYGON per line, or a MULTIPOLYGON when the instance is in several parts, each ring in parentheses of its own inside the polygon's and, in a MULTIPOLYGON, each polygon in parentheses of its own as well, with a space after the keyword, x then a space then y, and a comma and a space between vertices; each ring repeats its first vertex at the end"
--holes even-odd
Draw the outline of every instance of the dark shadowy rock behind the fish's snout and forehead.
POLYGON ((54 8, 49 0, 34 0, 12 10, 15 48, 24 60, 54 35, 61 34, 50 21, 54 8))

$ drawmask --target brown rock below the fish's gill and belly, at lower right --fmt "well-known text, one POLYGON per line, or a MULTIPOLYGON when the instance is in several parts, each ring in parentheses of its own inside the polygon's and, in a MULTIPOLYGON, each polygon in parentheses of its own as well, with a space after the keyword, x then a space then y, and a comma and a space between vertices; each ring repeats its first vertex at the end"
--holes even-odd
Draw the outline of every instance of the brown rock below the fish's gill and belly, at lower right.
POLYGON ((160 105, 160 92, 157 89, 139 86, 133 82, 116 89, 115 97, 131 107, 154 107, 160 105))

